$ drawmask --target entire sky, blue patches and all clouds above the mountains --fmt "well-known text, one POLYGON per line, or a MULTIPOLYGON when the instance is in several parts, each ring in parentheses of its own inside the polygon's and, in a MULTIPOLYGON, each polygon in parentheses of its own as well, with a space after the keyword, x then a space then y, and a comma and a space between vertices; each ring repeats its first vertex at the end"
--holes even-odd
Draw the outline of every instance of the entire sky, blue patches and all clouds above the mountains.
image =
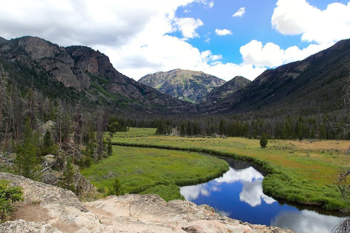
POLYGON ((85 45, 135 80, 176 68, 254 80, 350 38, 349 0, 18 0, 0 36, 85 45))

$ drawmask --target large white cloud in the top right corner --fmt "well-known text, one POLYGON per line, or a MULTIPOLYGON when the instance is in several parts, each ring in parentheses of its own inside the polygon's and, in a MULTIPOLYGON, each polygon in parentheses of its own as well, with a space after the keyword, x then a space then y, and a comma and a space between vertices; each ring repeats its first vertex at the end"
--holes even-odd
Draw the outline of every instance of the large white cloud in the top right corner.
POLYGON ((279 0, 272 27, 283 35, 300 35, 302 41, 327 44, 350 38, 350 2, 331 3, 320 10, 306 0, 279 0))

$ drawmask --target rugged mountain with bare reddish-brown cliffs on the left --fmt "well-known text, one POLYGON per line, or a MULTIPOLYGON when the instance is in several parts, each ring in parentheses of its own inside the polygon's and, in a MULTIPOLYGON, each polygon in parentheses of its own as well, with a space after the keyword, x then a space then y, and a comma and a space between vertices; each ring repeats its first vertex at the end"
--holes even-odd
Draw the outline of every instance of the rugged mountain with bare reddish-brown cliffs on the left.
POLYGON ((105 54, 86 46, 65 48, 25 36, 0 44, 0 62, 19 89, 33 85, 50 98, 64 97, 66 102, 107 105, 117 110, 197 112, 194 104, 119 73, 105 54))

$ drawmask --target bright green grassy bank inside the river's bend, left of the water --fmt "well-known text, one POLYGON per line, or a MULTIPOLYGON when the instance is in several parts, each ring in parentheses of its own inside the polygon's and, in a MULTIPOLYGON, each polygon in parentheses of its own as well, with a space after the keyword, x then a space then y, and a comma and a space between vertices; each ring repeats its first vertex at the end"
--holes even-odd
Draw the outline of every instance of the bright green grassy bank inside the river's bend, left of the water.
POLYGON ((227 162, 194 152, 113 146, 113 155, 80 172, 107 192, 118 176, 125 192, 155 193, 166 201, 183 199, 177 185, 211 180, 229 169, 227 162), (108 175, 112 177, 108 177, 108 175))

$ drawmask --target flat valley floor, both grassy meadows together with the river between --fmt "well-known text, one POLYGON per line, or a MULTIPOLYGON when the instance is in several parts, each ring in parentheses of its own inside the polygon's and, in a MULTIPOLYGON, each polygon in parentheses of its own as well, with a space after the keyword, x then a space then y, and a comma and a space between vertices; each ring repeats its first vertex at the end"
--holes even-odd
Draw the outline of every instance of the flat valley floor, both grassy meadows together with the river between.
POLYGON ((116 176, 125 192, 210 203, 224 216, 297 233, 326 232, 338 223, 336 210, 342 199, 334 180, 336 171, 347 167, 341 150, 348 145, 346 140, 272 140, 260 148, 254 139, 154 133, 154 128, 130 128, 114 134, 116 154, 82 169, 82 174, 105 190, 116 176), (229 171, 220 161, 229 163, 229 171), (191 165, 183 166, 187 163, 191 165), (111 173, 113 177, 104 178, 111 173), (271 187, 279 192, 269 191, 276 190, 271 187), (257 210, 268 214, 254 215, 257 210), (311 219, 323 222, 299 225, 311 219))

